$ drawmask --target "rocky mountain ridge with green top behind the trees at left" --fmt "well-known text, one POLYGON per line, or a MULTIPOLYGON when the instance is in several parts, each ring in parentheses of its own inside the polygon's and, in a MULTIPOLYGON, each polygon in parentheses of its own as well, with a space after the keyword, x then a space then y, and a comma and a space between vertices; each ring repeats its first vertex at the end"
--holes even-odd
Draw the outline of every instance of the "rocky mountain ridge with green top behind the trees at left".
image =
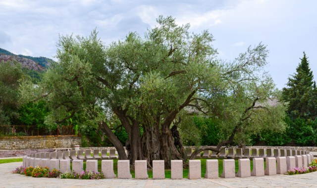
POLYGON ((27 55, 16 55, 8 50, 0 48, 0 62, 15 59, 20 62, 22 67, 29 70, 43 71, 47 69, 53 61, 53 59, 47 57, 32 57, 27 55))

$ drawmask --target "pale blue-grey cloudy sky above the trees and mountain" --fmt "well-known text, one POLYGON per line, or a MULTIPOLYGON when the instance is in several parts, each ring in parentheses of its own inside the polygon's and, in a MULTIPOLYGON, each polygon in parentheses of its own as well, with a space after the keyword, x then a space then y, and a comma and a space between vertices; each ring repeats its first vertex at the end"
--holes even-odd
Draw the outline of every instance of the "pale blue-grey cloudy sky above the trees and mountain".
POLYGON ((281 89, 303 51, 317 80, 316 7, 317 0, 0 0, 0 48, 53 58, 59 35, 97 28, 108 44, 129 31, 143 35, 159 15, 171 15, 193 32, 209 29, 227 61, 250 45, 267 45, 265 70, 281 89))

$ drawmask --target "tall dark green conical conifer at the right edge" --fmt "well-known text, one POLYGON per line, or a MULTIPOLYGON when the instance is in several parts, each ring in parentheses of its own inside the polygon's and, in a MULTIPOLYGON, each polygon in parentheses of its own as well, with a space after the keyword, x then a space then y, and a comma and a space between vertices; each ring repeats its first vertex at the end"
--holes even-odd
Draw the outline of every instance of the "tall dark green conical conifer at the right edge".
POLYGON ((282 96, 289 102, 288 114, 292 118, 316 118, 316 83, 313 71, 309 67, 306 54, 296 68, 296 73, 288 78, 287 87, 283 88, 282 96))

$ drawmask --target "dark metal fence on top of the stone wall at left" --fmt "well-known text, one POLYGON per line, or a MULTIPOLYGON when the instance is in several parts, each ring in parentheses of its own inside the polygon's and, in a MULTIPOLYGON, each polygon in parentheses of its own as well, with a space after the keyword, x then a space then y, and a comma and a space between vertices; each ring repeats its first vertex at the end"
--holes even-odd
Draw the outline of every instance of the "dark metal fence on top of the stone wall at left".
POLYGON ((61 126, 56 130, 48 130, 36 125, 0 125, 1 136, 74 135, 74 133, 73 126, 61 126))

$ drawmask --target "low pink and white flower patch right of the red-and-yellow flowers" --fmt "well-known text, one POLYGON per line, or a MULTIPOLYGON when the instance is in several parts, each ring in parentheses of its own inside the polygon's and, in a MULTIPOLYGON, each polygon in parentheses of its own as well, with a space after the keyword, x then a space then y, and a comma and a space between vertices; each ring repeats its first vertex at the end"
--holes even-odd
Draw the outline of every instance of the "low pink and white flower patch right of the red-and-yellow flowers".
POLYGON ((65 172, 59 175, 60 179, 81 179, 81 180, 99 180, 104 179, 105 175, 102 172, 82 171, 81 173, 65 172))

